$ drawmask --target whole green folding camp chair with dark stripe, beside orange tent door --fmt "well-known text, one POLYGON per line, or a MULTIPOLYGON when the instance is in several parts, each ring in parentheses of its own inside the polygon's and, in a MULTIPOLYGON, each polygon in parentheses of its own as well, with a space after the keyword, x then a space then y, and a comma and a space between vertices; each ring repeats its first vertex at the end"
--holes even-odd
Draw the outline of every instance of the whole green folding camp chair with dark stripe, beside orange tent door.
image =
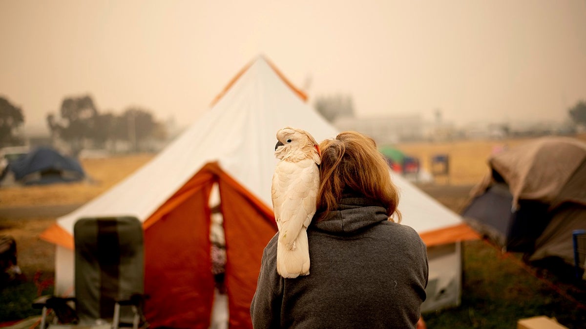
POLYGON ((75 297, 36 300, 33 307, 43 309, 40 328, 49 310, 54 314, 49 328, 147 327, 141 222, 135 217, 81 218, 73 239, 75 297))

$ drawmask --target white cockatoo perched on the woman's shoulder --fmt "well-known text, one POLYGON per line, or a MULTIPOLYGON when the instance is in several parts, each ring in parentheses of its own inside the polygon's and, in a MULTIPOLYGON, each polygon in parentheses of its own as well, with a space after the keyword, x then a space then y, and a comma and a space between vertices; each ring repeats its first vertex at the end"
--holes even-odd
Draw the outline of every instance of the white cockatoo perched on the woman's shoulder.
POLYGON ((285 127, 277 132, 272 176, 272 208, 279 228, 277 272, 282 277, 309 274, 306 229, 316 210, 321 162, 319 146, 308 132, 285 127))

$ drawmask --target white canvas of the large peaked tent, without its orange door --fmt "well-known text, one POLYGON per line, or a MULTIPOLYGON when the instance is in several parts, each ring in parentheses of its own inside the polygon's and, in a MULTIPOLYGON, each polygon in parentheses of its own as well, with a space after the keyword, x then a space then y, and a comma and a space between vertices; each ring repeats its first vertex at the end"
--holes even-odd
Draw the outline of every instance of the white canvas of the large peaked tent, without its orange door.
MULTIPOLYGON (((209 111, 151 162, 76 211, 60 217, 56 225, 42 234, 57 248, 56 293, 70 293, 73 286, 73 251, 68 241, 79 218, 134 215, 148 224, 186 182, 210 163, 270 209, 271 177, 276 163, 272 150, 277 130, 283 126, 299 127, 318 141, 337 134, 300 95, 264 57, 252 61, 209 111)), ((424 309, 458 304, 458 241, 471 237, 471 231, 458 215, 402 177, 394 175, 393 179, 401 189, 399 208, 403 224, 413 227, 430 246, 430 289, 446 291, 441 296, 428 291, 430 298, 424 309)))

